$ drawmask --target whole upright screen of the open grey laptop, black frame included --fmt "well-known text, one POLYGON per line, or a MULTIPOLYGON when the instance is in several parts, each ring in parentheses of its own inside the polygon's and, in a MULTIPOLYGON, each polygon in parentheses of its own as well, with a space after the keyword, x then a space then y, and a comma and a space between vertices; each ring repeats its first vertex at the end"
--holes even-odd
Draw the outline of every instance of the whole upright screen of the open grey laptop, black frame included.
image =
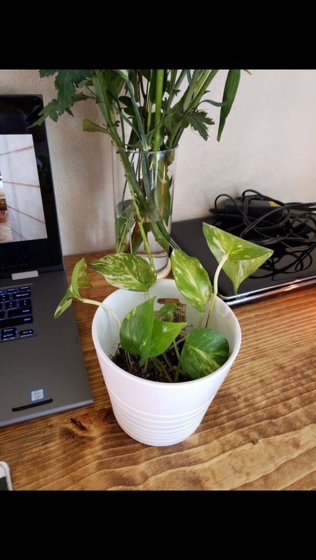
POLYGON ((62 268, 56 204, 38 95, 0 96, 0 277, 62 268))

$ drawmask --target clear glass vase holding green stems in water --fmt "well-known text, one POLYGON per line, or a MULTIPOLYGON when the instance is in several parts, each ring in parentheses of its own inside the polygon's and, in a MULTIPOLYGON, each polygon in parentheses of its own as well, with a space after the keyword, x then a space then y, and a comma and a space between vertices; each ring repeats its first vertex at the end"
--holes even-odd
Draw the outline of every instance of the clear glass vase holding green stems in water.
POLYGON ((116 252, 143 256, 159 274, 168 265, 176 150, 112 144, 116 252))

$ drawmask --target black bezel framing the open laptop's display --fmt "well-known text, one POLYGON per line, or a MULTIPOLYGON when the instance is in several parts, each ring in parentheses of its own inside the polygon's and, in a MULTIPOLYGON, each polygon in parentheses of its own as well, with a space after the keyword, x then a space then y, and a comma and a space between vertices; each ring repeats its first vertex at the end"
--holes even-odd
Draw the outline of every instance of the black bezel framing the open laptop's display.
POLYGON ((0 243, 0 278, 26 270, 51 272, 63 269, 59 237, 56 200, 53 190, 51 161, 49 158, 45 123, 28 128, 38 119, 43 109, 42 95, 0 95, 0 134, 31 134, 36 160, 42 162, 39 184, 42 195, 47 239, 0 243), (25 122, 15 118, 27 115, 25 122))

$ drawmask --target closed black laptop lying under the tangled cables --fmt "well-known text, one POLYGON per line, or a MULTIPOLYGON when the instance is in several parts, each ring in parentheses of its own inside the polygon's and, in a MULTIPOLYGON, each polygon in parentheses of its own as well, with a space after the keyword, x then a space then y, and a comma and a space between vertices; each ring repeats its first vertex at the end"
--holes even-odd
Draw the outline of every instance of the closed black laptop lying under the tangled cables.
MULTIPOLYGON (((171 246, 182 249, 189 256, 196 256, 213 282, 218 263, 205 241, 203 222, 222 230, 230 228, 227 220, 225 223, 218 223, 218 218, 210 214, 203 218, 174 222, 171 227, 171 246)), ((313 228, 314 224, 311 225, 311 231, 313 228)), ((247 304, 259 298, 277 296, 287 290, 310 286, 316 282, 316 244, 306 245, 304 250, 301 250, 301 246, 290 250, 281 244, 274 244, 269 248, 274 250, 272 257, 242 282, 237 294, 233 293, 230 279, 221 271, 218 278, 218 295, 228 305, 247 304)))

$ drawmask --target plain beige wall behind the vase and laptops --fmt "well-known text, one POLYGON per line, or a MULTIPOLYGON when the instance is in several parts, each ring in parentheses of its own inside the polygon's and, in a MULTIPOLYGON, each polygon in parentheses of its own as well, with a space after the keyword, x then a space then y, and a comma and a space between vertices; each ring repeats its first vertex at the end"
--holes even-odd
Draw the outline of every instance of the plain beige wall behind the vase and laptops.
MULTIPOLYGON (((255 188, 285 202, 316 198, 316 70, 253 70, 240 89, 220 143, 216 127, 204 142, 181 138, 173 218, 203 216, 220 193, 255 188)), ((225 74, 210 98, 221 99, 225 74)), ((52 78, 36 70, 0 70, 0 92, 55 96, 52 78)), ((218 123, 219 109, 207 105, 218 123)), ((111 147, 103 134, 82 132, 84 116, 100 122, 88 101, 47 124, 64 254, 114 246, 111 147)))

